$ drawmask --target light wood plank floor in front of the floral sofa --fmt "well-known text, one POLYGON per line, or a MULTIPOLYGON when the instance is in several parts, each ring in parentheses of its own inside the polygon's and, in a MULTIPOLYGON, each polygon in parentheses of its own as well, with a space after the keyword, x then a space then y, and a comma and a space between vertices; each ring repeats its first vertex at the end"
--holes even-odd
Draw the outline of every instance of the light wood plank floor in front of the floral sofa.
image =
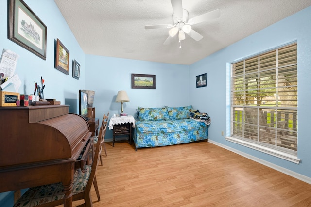
POLYGON ((206 141, 137 152, 126 142, 106 148, 94 207, 311 206, 310 184, 206 141))

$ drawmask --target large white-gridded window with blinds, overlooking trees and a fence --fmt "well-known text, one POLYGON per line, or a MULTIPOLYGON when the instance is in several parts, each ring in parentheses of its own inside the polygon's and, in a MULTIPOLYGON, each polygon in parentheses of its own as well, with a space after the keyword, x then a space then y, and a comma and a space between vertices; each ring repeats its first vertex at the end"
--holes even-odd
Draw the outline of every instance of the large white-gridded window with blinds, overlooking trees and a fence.
POLYGON ((231 137, 297 154, 297 43, 231 64, 231 137))

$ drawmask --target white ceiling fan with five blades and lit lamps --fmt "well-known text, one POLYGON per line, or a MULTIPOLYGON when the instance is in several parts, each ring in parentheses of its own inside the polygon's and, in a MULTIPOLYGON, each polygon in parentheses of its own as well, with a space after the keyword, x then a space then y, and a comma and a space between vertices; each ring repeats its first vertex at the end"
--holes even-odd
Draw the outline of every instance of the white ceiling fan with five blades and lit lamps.
POLYGON ((145 26, 145 29, 171 28, 169 30, 169 37, 163 43, 164 45, 168 45, 177 33, 179 48, 181 48, 180 41, 186 39, 185 33, 196 41, 201 40, 203 36, 198 32, 195 32, 192 29, 192 25, 218 18, 220 16, 219 9, 216 9, 203 15, 195 16, 191 19, 188 19, 189 13, 186 9, 183 9, 182 0, 171 0, 171 4, 173 7, 173 24, 157 24, 145 26))

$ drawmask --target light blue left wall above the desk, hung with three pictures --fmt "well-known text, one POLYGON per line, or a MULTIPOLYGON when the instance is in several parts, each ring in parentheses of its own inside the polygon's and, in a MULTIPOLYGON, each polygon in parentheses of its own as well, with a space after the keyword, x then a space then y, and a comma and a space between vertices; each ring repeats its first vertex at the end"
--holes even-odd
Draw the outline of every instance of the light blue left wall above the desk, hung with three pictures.
POLYGON ((44 97, 56 98, 62 104, 74 103, 76 106, 72 105, 70 110, 77 112, 74 109, 78 109, 78 90, 85 86, 85 54, 53 0, 25 0, 25 2, 47 26, 47 57, 43 60, 7 38, 7 1, 1 0, 0 52, 2 53, 2 49, 9 49, 20 55, 15 71, 22 81, 18 92, 33 94, 34 81, 40 83, 42 76, 45 80, 44 97), (69 50, 69 75, 54 68, 54 46, 57 38, 69 50), (80 77, 82 78, 79 80, 72 78, 73 59, 81 64, 80 77))

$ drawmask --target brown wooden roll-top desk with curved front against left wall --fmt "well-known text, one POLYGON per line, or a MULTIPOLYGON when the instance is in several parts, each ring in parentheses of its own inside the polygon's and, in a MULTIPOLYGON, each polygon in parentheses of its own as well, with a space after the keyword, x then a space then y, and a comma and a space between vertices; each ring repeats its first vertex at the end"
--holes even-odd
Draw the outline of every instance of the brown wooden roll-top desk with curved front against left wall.
POLYGON ((0 192, 62 182, 71 207, 74 169, 89 157, 91 134, 68 105, 0 107, 0 192))

